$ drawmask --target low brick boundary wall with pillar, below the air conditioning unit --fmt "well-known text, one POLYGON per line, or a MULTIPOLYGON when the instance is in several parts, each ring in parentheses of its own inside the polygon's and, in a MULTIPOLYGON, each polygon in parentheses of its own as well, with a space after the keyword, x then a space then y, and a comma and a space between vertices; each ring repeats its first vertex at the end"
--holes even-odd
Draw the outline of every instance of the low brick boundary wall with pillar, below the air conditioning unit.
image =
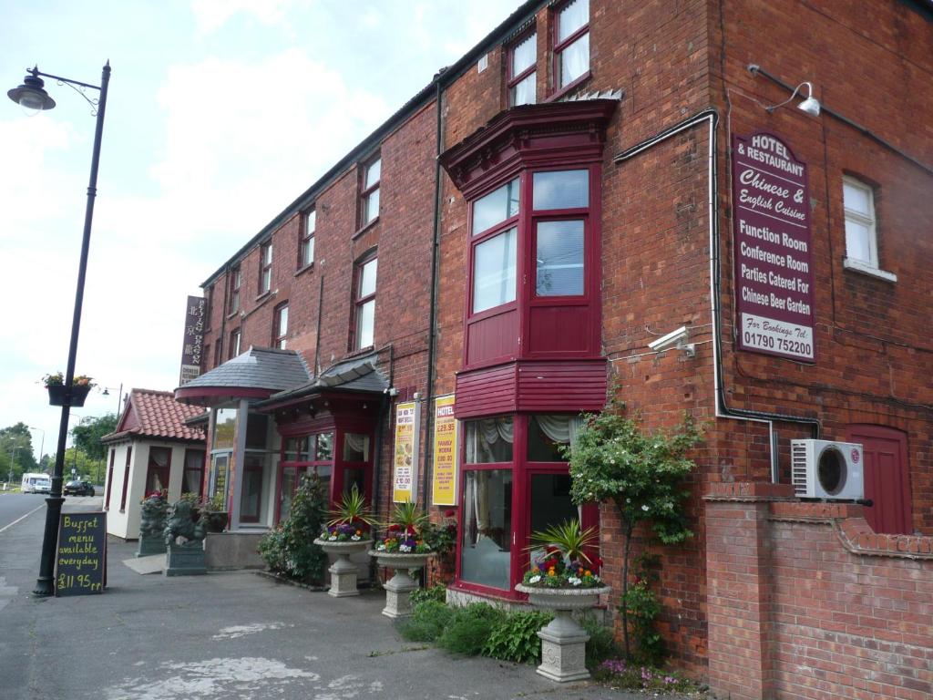
POLYGON ((933 697, 933 538, 767 483, 717 484, 706 538, 714 693, 933 697))

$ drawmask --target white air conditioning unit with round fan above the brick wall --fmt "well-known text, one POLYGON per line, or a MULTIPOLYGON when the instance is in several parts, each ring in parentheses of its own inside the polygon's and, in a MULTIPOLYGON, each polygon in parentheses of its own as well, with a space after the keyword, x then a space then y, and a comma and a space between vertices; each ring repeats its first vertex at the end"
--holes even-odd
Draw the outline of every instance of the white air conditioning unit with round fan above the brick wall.
POLYGON ((792 440, 790 478, 801 498, 864 498, 862 446, 855 442, 792 440))

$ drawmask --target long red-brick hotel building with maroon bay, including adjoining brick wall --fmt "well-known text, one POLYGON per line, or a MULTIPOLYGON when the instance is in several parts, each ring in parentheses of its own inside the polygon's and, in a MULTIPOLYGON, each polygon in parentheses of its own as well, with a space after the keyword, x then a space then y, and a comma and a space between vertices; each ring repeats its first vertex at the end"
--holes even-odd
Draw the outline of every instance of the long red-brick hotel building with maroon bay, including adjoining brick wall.
MULTIPOLYGON (((216 409, 209 441, 234 412, 207 471, 230 465, 253 525, 306 469, 437 512, 453 397, 451 590, 516 599, 529 532, 576 512, 555 445, 615 383, 650 429, 708 425, 696 537, 659 550, 676 663, 733 697, 924 696, 931 19, 919 0, 524 3, 205 281, 208 361, 176 395, 216 409), (230 385, 250 346, 307 376, 230 385), (862 445, 871 508, 793 498, 790 441, 813 438, 862 445), (809 539, 827 555, 801 567, 786 540, 809 539), (895 661, 862 673, 843 649, 895 661)), ((582 518, 618 591, 619 524, 582 518)))

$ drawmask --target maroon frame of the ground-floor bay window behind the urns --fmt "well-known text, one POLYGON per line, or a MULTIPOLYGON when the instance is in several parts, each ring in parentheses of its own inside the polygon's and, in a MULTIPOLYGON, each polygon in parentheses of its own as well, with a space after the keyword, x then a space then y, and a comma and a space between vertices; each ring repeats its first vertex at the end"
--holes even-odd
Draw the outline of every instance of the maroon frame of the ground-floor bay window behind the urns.
MULTIPOLYGON (((555 412, 560 413, 560 412, 555 412)), ((466 421, 462 421, 460 430, 460 469, 459 498, 457 508, 457 531, 460 533, 456 545, 456 574, 454 588, 491 595, 499 598, 522 600, 526 596, 515 591, 515 585, 522 581, 524 572, 530 566, 530 553, 525 549, 531 535, 531 477, 535 474, 564 474, 570 468, 566 462, 531 462, 528 460, 528 421, 535 413, 512 414, 512 461, 493 462, 488 464, 466 463, 466 421), (466 497, 466 472, 492 469, 510 469, 512 475, 512 501, 511 501, 511 531, 512 546, 509 553, 509 585, 508 590, 494 588, 482 583, 461 580, 461 549, 463 546, 463 533, 465 532, 464 519, 466 506, 463 498, 466 497)), ((492 416, 485 416, 492 417, 492 416)), ((470 418, 469 420, 481 420, 470 418)), ((588 503, 582 508, 582 527, 596 529, 596 541, 599 539, 599 504, 588 503)))

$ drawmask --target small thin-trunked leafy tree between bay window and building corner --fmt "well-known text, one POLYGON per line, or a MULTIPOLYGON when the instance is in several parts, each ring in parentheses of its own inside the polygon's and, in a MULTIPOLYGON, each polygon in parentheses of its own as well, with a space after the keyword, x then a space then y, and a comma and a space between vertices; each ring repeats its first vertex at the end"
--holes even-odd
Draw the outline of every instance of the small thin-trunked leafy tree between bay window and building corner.
MULTIPOLYGON (((570 497, 578 505, 611 501, 622 530, 622 600, 629 586, 629 554, 636 525, 646 523, 664 544, 692 536, 684 501, 684 481, 695 464, 686 455, 700 441, 689 415, 671 433, 648 433, 624 404, 611 401, 601 413, 587 416, 572 447, 564 448, 571 477, 570 497)), ((632 658, 628 608, 623 605, 622 637, 626 659, 632 658)))

